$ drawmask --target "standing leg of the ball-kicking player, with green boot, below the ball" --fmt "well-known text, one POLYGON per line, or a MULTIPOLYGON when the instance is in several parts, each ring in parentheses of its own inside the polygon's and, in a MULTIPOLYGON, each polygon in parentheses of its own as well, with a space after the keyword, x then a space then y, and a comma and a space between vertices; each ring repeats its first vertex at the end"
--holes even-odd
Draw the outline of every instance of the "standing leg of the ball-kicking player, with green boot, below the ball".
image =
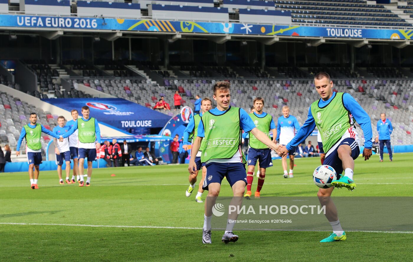
POLYGON ((337 207, 331 199, 331 193, 333 189, 333 187, 320 188, 317 193, 320 205, 325 206, 325 217, 327 218, 328 222, 330 222, 330 225, 333 229, 333 233, 331 233, 330 236, 324 238, 320 242, 344 241, 347 238, 346 233, 343 231, 338 219, 337 207))

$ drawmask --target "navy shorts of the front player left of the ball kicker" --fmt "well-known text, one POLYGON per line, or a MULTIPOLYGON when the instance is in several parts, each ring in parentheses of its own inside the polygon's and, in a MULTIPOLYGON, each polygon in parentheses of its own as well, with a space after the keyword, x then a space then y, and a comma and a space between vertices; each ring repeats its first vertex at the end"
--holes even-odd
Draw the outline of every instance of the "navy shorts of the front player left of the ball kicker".
POLYGON ((208 190, 210 183, 220 183, 227 178, 228 183, 232 187, 237 181, 244 181, 247 185, 247 172, 245 165, 242 163, 209 163, 206 165, 207 175, 205 176, 202 189, 208 190))

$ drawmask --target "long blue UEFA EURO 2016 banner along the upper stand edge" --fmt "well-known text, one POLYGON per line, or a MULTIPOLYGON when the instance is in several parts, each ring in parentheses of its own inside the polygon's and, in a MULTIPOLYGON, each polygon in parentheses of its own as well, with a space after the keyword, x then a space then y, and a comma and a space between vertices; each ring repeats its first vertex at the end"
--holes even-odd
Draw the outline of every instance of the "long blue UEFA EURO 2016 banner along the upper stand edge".
POLYGON ((119 31, 160 31, 179 33, 222 33, 266 36, 307 36, 333 38, 411 39, 413 29, 356 29, 298 25, 244 24, 148 19, 52 17, 0 15, 0 27, 54 28, 119 31))

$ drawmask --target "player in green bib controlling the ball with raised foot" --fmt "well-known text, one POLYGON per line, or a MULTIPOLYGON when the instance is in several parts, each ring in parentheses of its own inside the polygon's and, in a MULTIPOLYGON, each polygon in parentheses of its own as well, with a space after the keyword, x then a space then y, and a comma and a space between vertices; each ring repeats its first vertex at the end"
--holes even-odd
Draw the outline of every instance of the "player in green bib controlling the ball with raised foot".
POLYGON ((311 104, 306 122, 290 143, 285 147, 280 147, 278 155, 287 155, 288 150, 303 142, 317 126, 323 141, 324 164, 333 167, 337 173, 337 180, 332 182, 333 187, 319 188, 317 194, 321 205, 326 207, 325 216, 333 229, 333 233, 320 242, 343 241, 346 240, 347 236, 341 227, 337 208, 330 196, 334 187, 344 186, 349 190, 356 188, 353 170, 354 160, 360 154, 360 148, 358 147, 354 119, 360 124, 365 137, 364 160, 368 160, 372 154, 373 131, 370 117, 350 94, 332 91, 333 82, 327 73, 316 74, 314 85, 321 97, 320 100, 311 104), (342 175, 343 170, 344 176, 342 175))

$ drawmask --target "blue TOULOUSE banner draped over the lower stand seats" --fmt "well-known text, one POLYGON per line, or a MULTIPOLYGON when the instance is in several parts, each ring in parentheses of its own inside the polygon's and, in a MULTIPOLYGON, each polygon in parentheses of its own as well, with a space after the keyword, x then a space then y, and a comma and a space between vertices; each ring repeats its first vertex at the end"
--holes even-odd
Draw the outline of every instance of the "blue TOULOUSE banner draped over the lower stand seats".
POLYGON ((81 108, 90 108, 90 117, 98 122, 133 133, 148 133, 150 128, 162 128, 170 117, 142 105, 121 98, 81 98, 81 99, 42 99, 64 110, 76 109, 81 116, 81 108), (146 132, 144 132, 146 131, 146 132))

